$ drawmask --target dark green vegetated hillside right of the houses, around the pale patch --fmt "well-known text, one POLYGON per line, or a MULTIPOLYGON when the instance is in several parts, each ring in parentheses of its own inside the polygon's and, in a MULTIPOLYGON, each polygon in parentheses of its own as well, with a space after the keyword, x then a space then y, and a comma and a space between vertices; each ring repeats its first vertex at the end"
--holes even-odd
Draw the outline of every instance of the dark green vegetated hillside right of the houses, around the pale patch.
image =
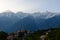
POLYGON ((46 35, 45 33, 49 30, 50 32, 45 40, 60 40, 60 28, 35 31, 33 34, 26 36, 25 40, 41 40, 40 36, 46 35))

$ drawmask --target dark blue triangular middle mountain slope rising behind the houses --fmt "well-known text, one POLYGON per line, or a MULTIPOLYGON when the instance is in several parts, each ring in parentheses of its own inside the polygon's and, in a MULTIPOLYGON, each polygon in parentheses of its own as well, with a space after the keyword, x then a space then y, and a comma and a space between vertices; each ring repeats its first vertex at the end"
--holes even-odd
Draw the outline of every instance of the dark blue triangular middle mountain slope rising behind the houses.
POLYGON ((13 29, 14 30, 20 30, 20 29, 25 29, 25 30, 36 30, 38 28, 33 16, 27 16, 24 19, 18 21, 17 23, 14 24, 13 29), (15 27, 15 29, 14 29, 15 27))

